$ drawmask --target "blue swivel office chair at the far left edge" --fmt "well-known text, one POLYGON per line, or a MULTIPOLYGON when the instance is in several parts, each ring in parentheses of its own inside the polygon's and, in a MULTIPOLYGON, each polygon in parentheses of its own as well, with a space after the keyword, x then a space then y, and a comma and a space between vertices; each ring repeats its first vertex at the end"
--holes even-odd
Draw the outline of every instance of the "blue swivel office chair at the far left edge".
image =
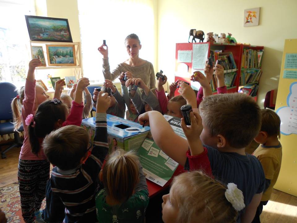
MULTIPOLYGON (((11 111, 11 102, 12 99, 16 97, 17 93, 15 91, 15 85, 8 83, 8 82, 1 82, 0 83, 0 95, 2 95, 3 99, 1 101, 1 108, 0 108, 0 120, 7 120, 7 122, 0 123, 0 135, 11 134, 14 133, 15 141, 13 145, 1 151, 2 159, 6 158, 5 153, 10 149, 23 145, 23 142, 19 138, 19 133, 14 131, 14 125, 11 123, 12 121, 12 111, 11 111)), ((24 131, 23 126, 19 129, 19 131, 24 131)), ((3 143, 0 146, 10 145, 9 143, 3 143)))

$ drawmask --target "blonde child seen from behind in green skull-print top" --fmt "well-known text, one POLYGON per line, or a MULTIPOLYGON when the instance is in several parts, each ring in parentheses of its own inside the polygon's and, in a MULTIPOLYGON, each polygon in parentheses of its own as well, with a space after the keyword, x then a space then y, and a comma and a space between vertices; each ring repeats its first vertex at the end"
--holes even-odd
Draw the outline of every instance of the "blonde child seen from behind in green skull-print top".
POLYGON ((96 195, 99 222, 144 222, 149 192, 137 155, 118 149, 99 174, 104 189, 96 195))

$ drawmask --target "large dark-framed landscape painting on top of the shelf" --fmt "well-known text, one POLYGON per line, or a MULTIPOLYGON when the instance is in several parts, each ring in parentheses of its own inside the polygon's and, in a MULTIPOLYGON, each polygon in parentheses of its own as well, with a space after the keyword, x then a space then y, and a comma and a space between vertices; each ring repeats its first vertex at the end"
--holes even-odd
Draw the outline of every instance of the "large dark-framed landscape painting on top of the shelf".
POLYGON ((25 15, 30 40, 72 42, 68 19, 25 15))

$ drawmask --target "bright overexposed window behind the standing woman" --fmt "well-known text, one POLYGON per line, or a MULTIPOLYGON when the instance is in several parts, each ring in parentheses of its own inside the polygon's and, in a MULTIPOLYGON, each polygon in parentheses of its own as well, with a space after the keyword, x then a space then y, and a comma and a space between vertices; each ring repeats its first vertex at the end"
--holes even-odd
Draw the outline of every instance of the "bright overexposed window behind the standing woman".
POLYGON ((128 58, 124 40, 135 33, 142 44, 140 58, 154 63, 155 29, 152 0, 78 0, 84 77, 102 83, 103 40, 109 51, 110 69, 128 58))

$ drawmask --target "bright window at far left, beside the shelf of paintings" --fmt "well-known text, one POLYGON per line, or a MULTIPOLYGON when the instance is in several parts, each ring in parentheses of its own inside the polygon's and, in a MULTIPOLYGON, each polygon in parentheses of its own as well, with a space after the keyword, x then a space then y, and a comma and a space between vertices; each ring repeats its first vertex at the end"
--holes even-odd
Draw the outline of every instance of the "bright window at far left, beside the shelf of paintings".
POLYGON ((0 81, 24 85, 30 45, 24 15, 35 14, 34 1, 0 1, 0 81), (10 2, 10 3, 8 3, 10 2))

